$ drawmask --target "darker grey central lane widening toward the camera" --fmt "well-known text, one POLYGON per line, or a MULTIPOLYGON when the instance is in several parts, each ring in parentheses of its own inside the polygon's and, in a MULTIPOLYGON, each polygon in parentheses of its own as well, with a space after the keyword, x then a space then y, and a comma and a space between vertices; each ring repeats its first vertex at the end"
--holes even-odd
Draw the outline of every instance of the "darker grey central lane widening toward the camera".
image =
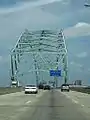
POLYGON ((90 120, 81 107, 56 90, 46 92, 17 120, 90 120))

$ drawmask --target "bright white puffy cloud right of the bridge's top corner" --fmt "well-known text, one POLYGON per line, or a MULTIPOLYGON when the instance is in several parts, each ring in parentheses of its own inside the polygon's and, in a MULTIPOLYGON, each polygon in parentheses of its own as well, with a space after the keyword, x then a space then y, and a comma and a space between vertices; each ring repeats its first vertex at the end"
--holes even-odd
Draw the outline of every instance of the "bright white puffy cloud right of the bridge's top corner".
POLYGON ((64 30, 66 37, 78 37, 90 35, 90 24, 80 22, 64 30))

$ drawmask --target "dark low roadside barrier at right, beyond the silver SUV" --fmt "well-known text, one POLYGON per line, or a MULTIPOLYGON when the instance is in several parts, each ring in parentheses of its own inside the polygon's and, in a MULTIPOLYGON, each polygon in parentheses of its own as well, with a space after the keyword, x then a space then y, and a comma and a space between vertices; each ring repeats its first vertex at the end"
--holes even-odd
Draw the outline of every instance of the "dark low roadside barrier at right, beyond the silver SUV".
POLYGON ((90 87, 70 87, 72 91, 90 94, 90 87))

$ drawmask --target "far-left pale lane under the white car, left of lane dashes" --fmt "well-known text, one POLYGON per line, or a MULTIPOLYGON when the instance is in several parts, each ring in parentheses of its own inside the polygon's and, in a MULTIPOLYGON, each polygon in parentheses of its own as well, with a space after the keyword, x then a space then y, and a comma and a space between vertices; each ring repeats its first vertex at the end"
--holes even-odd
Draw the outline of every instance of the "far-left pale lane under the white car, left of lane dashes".
POLYGON ((24 91, 22 91, 7 95, 1 95, 0 105, 23 105, 24 103, 35 100, 37 97, 42 95, 43 92, 43 90, 39 90, 38 94, 25 94, 24 91))

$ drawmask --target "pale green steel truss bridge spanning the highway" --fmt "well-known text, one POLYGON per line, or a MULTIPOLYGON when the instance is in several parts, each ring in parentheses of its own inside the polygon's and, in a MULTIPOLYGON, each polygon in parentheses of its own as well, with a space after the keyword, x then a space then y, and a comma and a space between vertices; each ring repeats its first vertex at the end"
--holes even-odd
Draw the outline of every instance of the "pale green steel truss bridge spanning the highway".
MULTIPOLYGON (((34 72, 38 85, 41 72, 49 74, 50 70, 61 69, 61 77, 66 83, 68 80, 67 63, 67 48, 62 30, 29 31, 26 29, 11 51, 11 81, 16 81, 20 75, 34 72), (26 58, 25 55, 30 55, 31 67, 21 72, 19 67, 22 60, 26 58)), ((54 78, 57 86, 59 78, 54 78)))

